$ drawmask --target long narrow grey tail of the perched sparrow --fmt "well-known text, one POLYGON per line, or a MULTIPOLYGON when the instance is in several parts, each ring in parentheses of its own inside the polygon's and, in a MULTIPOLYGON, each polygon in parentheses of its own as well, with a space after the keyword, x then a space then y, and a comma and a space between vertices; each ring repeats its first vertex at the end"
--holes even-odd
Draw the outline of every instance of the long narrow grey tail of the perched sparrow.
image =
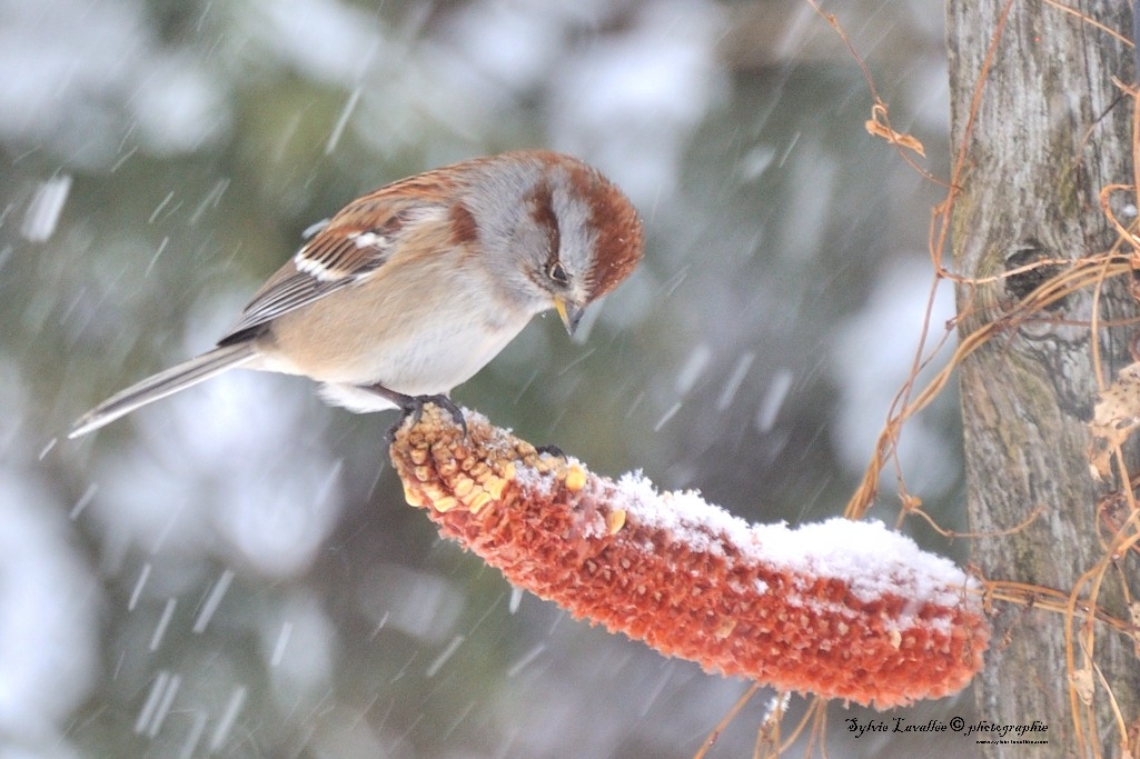
POLYGON ((119 417, 130 414, 160 398, 165 398, 241 366, 254 358, 253 345, 249 342, 222 345, 189 361, 184 361, 165 372, 147 377, 127 390, 115 393, 75 421, 68 438, 79 438, 93 432, 119 417))

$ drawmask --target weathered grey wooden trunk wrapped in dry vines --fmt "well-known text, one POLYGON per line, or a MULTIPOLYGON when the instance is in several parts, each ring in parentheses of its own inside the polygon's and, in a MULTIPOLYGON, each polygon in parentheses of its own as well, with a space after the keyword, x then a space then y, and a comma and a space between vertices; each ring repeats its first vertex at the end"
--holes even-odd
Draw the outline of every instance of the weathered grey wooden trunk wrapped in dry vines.
MULTIPOLYGON (((1131 36, 1129 2, 1062 2, 1131 36)), ((1132 181, 1132 100, 1117 100, 1122 92, 1112 81, 1114 75, 1135 80, 1131 49, 1047 2, 948 0, 947 11, 952 139, 955 153, 964 146, 951 269, 983 279, 1036 260, 1106 252, 1115 235, 1100 210, 1100 189, 1132 181)), ((1123 215, 1135 195, 1122 193, 1118 199, 1123 215)), ((962 334, 1009 319, 1011 304, 1065 269, 1045 267, 960 285, 962 334)), ((1106 283, 1102 320, 1134 316, 1135 302, 1123 279, 1106 283)), ((1029 320, 1010 319, 1008 329, 995 333, 961 367, 968 508, 971 529, 980 533, 972 557, 988 580, 1066 595, 1077 588, 1085 597, 1090 587, 1081 586, 1080 578, 1104 558, 1097 504, 1115 485, 1099 484, 1089 471, 1086 423, 1098 390, 1089 324, 1093 305, 1093 289, 1085 287, 1029 320), (1002 532, 1039 507, 1041 515, 1027 528, 1002 532)), ((1127 341, 1135 330, 1134 325, 1100 325, 1099 358, 1107 381, 1130 362, 1127 341)), ((1127 603, 1138 597, 1140 585, 1137 566, 1134 550, 1127 552, 1099 589, 1098 603, 1114 617, 1129 618, 1127 603), (1125 595, 1122 577, 1131 595, 1125 595)), ((1125 737, 1112 700, 1125 729, 1134 734, 1140 704, 1134 640, 1098 625, 1093 661, 1100 671, 1074 679, 1088 659, 1077 637, 1066 643, 1065 614, 1044 605, 995 603, 994 642, 975 687, 983 720, 1037 720, 1048 731, 1020 737, 1048 743, 991 744, 982 746, 985 756, 1121 756, 1125 737), (1080 695, 1088 686, 1094 688, 1091 705, 1080 695)), ((1070 621, 1076 631, 1082 625, 1080 617, 1070 621)), ((1134 743, 1131 750, 1140 756, 1134 743)))

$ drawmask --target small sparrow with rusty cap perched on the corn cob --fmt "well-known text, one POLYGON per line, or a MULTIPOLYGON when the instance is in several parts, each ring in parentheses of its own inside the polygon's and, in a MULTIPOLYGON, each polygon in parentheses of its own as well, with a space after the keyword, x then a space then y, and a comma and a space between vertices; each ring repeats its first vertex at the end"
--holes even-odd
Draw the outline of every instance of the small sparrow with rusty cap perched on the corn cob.
POLYGON ((213 350, 113 395, 68 436, 235 367, 311 377, 353 411, 412 413, 431 399, 457 414, 447 393, 531 317, 554 309, 572 335, 642 256, 621 190, 546 150, 393 182, 316 229, 213 350))

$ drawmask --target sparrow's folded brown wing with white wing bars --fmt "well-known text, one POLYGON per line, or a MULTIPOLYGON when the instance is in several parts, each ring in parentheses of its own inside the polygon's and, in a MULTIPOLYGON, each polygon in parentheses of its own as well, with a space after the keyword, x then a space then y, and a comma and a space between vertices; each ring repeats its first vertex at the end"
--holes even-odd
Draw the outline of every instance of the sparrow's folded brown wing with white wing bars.
MULTIPOLYGON (((420 178, 413 178, 420 179, 420 178)), ((442 219, 442 197, 408 191, 404 180, 357 198, 319 230, 261 286, 218 344, 245 340, 283 313, 357 284, 391 259, 412 227, 442 219)))

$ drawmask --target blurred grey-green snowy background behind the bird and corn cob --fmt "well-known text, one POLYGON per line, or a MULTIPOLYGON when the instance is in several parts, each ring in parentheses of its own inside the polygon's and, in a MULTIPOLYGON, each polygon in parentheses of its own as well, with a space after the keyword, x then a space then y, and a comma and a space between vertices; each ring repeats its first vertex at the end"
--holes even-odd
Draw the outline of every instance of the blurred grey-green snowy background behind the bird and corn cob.
MULTIPOLYGON (((940 2, 828 5, 946 177, 940 2)), ((0 757, 693 756, 748 684, 441 541, 391 415, 235 372, 64 435, 212 345, 363 191, 547 147, 625 188, 645 260, 579 340, 536 319, 456 400, 751 521, 837 514, 913 360, 943 195, 871 105, 800 0, 0 0, 0 757)), ((952 312, 937 293, 937 334, 952 312)), ((962 529, 955 417, 947 393, 901 462, 962 529)), ((710 756, 751 756, 768 695, 710 756)), ((828 756, 934 748, 844 733, 871 713, 832 704, 828 756)))

